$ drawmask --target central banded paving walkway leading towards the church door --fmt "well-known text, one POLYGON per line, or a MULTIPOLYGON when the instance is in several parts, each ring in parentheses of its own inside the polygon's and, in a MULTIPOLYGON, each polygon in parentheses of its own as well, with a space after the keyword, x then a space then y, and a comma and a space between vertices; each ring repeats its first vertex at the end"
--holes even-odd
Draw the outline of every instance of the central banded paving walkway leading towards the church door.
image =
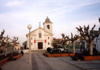
POLYGON ((55 57, 48 58, 41 53, 35 53, 35 55, 39 70, 42 70, 42 68, 43 70, 81 70, 55 57))

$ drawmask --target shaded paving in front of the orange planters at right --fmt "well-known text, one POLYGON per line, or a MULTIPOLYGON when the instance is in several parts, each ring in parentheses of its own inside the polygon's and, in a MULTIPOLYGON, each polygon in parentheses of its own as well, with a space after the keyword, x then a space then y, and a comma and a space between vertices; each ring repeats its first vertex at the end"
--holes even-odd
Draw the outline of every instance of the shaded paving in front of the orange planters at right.
POLYGON ((76 67, 79 67, 83 70, 95 70, 95 69, 100 70, 100 61, 99 60, 97 60, 97 61, 73 61, 70 59, 70 57, 65 57, 65 58, 60 57, 59 59, 62 61, 65 61, 69 64, 72 64, 76 67))

